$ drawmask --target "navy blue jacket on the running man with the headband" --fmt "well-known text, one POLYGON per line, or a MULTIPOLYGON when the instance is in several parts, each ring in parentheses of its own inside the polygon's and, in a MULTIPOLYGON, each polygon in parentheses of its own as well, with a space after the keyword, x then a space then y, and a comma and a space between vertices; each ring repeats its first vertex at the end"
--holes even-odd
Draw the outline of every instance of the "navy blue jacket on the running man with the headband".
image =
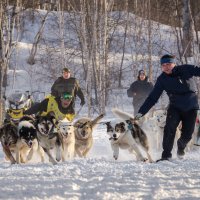
POLYGON ((169 97, 169 105, 180 111, 199 109, 197 97, 197 85, 194 76, 200 76, 200 67, 194 65, 175 66, 172 74, 162 73, 154 85, 139 113, 145 115, 151 107, 158 101, 165 90, 169 97))

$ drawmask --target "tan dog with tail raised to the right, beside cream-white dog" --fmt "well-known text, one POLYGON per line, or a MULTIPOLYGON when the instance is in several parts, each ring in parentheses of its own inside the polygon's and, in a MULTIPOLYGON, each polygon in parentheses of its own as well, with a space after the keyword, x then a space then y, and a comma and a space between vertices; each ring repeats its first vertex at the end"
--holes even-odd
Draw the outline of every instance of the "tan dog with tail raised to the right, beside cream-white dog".
POLYGON ((74 123, 75 128, 75 155, 86 157, 93 145, 93 130, 97 127, 103 114, 95 119, 81 118, 74 123))

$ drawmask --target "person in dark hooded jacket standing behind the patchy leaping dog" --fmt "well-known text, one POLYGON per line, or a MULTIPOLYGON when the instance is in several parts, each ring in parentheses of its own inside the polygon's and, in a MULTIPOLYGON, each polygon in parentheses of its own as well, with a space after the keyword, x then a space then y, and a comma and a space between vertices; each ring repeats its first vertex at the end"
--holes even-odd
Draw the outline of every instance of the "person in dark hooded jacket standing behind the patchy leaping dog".
POLYGON ((148 97, 152 89, 153 84, 148 82, 145 71, 140 70, 137 81, 133 82, 127 90, 128 97, 133 98, 134 115, 137 114, 140 106, 144 103, 144 100, 148 97))

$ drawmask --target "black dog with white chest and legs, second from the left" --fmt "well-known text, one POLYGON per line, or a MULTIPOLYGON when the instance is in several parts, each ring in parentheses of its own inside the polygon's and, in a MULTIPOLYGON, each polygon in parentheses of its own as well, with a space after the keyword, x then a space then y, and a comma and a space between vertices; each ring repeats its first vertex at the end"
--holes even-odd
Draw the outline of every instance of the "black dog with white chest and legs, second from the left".
POLYGON ((44 152, 39 146, 37 131, 33 123, 34 119, 32 117, 24 116, 18 124, 17 163, 26 163, 31 160, 36 151, 39 153, 41 161, 44 162, 44 152))

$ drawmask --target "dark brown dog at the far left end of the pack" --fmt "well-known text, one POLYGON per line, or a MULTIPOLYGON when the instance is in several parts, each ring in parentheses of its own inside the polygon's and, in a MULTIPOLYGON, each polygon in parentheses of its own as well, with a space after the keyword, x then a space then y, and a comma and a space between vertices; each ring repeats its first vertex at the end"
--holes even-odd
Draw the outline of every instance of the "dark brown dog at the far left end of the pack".
POLYGON ((6 123, 0 128, 1 145, 6 159, 10 160, 11 164, 16 163, 16 159, 12 153, 16 153, 17 140, 17 127, 14 124, 6 123))

